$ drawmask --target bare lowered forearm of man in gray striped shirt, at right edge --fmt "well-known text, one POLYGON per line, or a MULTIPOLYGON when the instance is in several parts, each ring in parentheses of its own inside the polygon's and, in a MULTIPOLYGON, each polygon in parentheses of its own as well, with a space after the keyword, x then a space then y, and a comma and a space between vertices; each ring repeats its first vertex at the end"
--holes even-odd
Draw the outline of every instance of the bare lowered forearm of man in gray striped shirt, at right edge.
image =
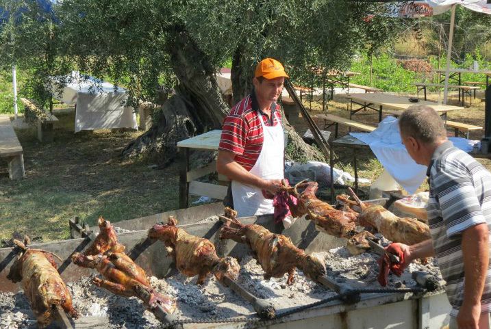
POLYGON ((488 224, 472 226, 462 233, 464 259, 464 304, 481 302, 489 264, 488 224))

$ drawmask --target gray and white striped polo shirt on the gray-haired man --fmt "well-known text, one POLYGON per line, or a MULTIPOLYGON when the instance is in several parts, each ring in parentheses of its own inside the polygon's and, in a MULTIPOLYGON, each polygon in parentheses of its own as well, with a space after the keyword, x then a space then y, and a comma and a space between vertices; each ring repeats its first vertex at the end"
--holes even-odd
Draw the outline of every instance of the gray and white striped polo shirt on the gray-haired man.
MULTIPOLYGON (((436 148, 428 166, 428 222, 436 259, 446 280, 446 294, 456 317, 464 299, 462 232, 491 224, 491 173, 447 141, 436 148)), ((491 263, 491 262, 490 262, 491 263)), ((481 298, 481 311, 491 311, 491 267, 481 298)))

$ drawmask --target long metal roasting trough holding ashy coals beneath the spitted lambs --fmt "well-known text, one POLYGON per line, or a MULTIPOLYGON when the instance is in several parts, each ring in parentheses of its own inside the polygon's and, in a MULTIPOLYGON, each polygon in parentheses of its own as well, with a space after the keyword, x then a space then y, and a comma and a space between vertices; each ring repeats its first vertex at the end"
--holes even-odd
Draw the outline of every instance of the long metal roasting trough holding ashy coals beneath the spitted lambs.
MULTIPOLYGON (((371 200, 384 204, 387 198, 371 200)), ((223 215, 222 203, 201 205, 188 209, 168 211, 144 218, 136 218, 123 222, 113 223, 119 228, 130 232, 118 233, 118 242, 126 246, 126 252, 150 276, 168 278, 173 275, 175 266, 170 257, 162 255, 164 244, 160 241, 152 243, 147 239, 148 229, 155 223, 166 222, 168 215, 174 215, 179 220, 179 227, 188 233, 205 237, 210 241, 218 241, 218 231, 223 222, 218 219, 223 215), (214 220, 203 221, 216 216, 214 220)), ((108 220, 111 220, 108 218, 108 220)), ((271 215, 239 218, 243 224, 261 224, 274 233, 284 234, 299 248, 306 252, 327 251, 331 248, 344 246, 345 239, 332 237, 316 231, 315 225, 305 218, 299 218, 294 225, 283 229, 281 224, 274 224, 271 215)), ((70 221, 73 239, 51 241, 42 244, 32 244, 32 248, 40 248, 58 254, 63 260, 59 272, 65 282, 73 282, 95 273, 92 269, 79 267, 71 263, 71 254, 82 252, 95 237, 98 227, 88 227, 79 220, 70 221)), ((249 254, 248 247, 225 240, 217 246, 220 256, 234 256, 242 259, 249 254)), ((0 248, 0 293, 17 292, 20 286, 6 278, 10 266, 14 263, 16 254, 11 248, 0 248)), ((225 321, 197 321, 199 323, 174 322, 176 317, 168 316, 163 310, 153 310, 155 317, 163 324, 173 324, 175 328, 442 328, 448 324, 450 306, 442 287, 435 278, 424 272, 413 272, 413 278, 422 288, 415 291, 383 293, 360 293, 351 288, 349 283, 336 282, 335 278, 325 276, 317 278, 317 282, 338 295, 328 300, 321 300, 314 305, 299 305, 299 308, 281 309, 273 311, 267 300, 257 298, 244 287, 233 280, 225 280, 224 285, 232 289, 237 295, 247 300, 255 311, 263 318, 231 317, 225 321), (425 289, 425 290, 423 290, 425 289), (430 291, 431 290, 431 291, 430 291), (272 313, 274 312, 275 313, 272 313), (265 319, 267 317, 273 319, 265 319)), ((67 319, 62 309, 58 309, 60 320, 55 321, 58 328, 107 328, 107 322, 82 321, 81 319, 67 319)))

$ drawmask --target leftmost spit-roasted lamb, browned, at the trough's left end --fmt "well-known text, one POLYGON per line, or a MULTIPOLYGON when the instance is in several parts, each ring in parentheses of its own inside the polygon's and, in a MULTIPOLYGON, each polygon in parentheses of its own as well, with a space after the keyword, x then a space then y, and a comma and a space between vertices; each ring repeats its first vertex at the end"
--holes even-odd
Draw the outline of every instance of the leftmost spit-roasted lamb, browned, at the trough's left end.
POLYGON ((29 239, 25 239, 23 243, 14 240, 16 249, 21 252, 10 267, 7 278, 12 282, 22 282, 24 294, 40 328, 45 328, 53 321, 56 306, 61 306, 66 313, 76 318, 77 311, 72 306, 72 296, 58 274, 55 258, 61 259, 52 252, 27 248, 28 241, 29 239))

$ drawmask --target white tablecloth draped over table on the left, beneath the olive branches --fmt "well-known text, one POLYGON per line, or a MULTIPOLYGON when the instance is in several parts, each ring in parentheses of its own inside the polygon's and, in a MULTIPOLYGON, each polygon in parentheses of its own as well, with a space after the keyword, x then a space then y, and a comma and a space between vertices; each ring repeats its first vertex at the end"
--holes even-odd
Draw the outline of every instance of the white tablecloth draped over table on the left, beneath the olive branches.
POLYGON ((77 72, 51 79, 53 97, 68 105, 76 104, 75 133, 81 130, 138 129, 133 107, 124 106, 126 90, 92 77, 81 79, 77 72), (60 82, 66 85, 60 85, 60 82))

